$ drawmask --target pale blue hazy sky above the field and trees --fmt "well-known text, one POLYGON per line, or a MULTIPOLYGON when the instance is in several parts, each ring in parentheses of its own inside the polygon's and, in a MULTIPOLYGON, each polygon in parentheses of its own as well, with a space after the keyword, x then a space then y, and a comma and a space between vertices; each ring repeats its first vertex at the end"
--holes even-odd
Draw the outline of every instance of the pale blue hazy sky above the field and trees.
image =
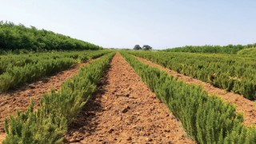
POLYGON ((0 21, 106 48, 256 42, 255 0, 0 0, 0 21))

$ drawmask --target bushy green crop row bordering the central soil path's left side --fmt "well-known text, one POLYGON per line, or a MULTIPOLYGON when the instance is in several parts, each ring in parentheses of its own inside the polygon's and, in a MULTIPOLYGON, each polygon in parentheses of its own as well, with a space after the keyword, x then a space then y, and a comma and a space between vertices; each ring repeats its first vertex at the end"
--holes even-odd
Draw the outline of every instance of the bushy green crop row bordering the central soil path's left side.
POLYGON ((80 112, 96 88, 96 82, 109 66, 113 53, 106 54, 79 70, 58 92, 41 98, 38 110, 33 102, 25 113, 5 121, 7 143, 62 143, 67 126, 80 112))

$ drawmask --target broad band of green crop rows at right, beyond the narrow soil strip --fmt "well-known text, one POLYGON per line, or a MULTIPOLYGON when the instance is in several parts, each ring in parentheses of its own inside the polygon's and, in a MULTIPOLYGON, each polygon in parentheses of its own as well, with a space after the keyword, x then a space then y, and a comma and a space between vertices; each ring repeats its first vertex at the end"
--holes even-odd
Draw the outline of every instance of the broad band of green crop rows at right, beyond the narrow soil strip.
POLYGON ((130 52, 170 70, 209 82, 213 86, 256 99, 256 58, 227 54, 130 52))

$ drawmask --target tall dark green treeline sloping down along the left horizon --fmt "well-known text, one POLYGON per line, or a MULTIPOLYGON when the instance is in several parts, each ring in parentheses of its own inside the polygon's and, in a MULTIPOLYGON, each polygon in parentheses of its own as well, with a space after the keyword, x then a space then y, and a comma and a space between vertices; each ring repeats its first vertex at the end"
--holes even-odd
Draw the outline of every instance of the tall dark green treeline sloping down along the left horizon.
POLYGON ((38 30, 12 22, 0 22, 0 50, 99 50, 90 42, 83 42, 49 30, 38 30))

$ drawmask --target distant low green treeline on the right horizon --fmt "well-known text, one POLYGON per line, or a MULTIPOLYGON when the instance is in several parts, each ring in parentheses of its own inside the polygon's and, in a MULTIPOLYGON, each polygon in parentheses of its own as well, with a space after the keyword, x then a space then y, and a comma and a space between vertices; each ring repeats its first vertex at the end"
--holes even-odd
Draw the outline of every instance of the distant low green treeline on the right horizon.
POLYGON ((239 50, 246 48, 254 48, 256 43, 246 46, 242 45, 228 45, 228 46, 182 46, 167 49, 164 51, 170 52, 188 52, 188 53, 215 53, 215 54, 237 54, 239 50))

